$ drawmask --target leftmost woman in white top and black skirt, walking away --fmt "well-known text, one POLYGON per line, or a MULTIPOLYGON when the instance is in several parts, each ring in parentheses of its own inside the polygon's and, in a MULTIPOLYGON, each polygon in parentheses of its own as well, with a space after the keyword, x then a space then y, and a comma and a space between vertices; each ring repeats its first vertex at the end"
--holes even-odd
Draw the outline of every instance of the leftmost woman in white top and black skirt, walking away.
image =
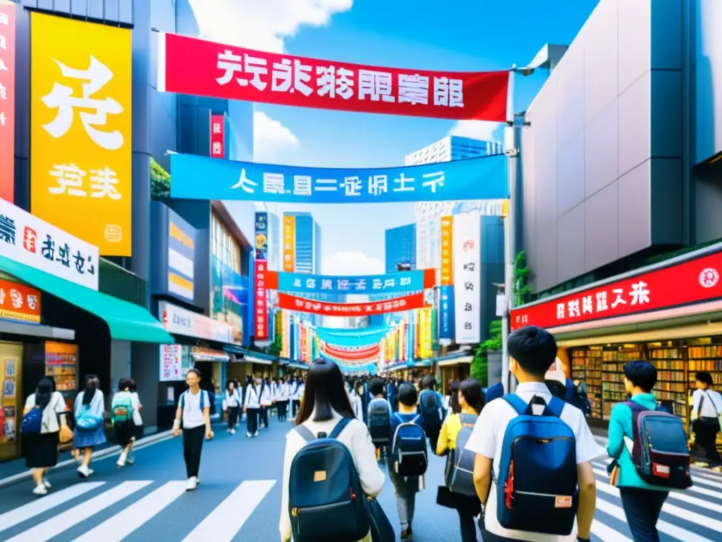
POLYGON ((38 382, 35 393, 30 394, 25 401, 27 414, 33 408, 42 410, 40 420, 40 433, 25 434, 25 465, 32 468, 32 479, 35 481, 36 495, 48 493, 51 485, 45 479, 48 468, 58 463, 58 443, 60 442, 60 428, 67 427, 65 400, 60 392, 54 390, 51 379, 43 378, 38 382))

